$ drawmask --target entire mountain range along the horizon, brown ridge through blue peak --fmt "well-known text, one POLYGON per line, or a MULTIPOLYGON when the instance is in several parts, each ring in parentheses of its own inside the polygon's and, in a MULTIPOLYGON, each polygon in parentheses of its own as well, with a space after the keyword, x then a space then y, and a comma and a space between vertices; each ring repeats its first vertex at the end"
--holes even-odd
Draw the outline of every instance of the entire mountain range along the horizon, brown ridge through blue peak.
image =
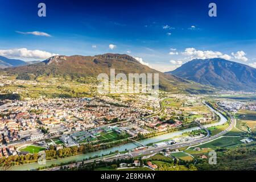
POLYGON ((84 82, 86 77, 96 78, 100 73, 158 73, 161 90, 179 93, 208 93, 214 88, 255 90, 256 69, 224 59, 195 59, 171 72, 162 73, 139 63, 134 57, 106 53, 96 56, 53 56, 42 62, 31 63, 1 57, 3 71, 23 80, 36 80, 40 76, 61 76, 84 82), (6 68, 9 67, 9 68, 6 68))

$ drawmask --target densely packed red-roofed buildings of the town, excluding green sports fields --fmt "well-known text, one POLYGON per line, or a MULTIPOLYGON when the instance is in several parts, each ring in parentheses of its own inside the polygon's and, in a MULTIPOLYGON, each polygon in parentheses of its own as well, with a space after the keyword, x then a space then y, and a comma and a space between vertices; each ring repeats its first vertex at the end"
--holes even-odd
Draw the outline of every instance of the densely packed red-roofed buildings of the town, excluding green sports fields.
MULTIPOLYGON (((110 97, 6 101, 0 106, 0 144, 4 147, 3 144, 36 142, 96 130, 112 123, 134 121, 152 113, 152 109, 143 107, 147 98, 141 97, 136 98, 137 102, 125 102, 128 97, 121 101, 110 97)), ((156 110, 159 101, 148 100, 148 106, 156 110)), ((88 139, 86 134, 83 137, 76 140, 88 139)))

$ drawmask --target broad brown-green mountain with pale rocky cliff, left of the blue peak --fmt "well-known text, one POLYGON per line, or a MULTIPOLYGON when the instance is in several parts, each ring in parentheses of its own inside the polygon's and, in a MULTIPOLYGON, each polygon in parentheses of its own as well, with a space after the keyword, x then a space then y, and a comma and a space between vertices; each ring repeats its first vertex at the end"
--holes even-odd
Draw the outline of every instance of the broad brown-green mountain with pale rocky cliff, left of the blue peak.
POLYGON ((68 80, 85 81, 85 77, 97 77, 100 73, 159 73, 159 89, 179 93, 207 93, 209 86, 164 74, 139 63, 129 55, 106 53, 96 56, 53 56, 40 63, 6 68, 4 71, 18 75, 17 78, 31 80, 40 76, 61 76, 68 80))

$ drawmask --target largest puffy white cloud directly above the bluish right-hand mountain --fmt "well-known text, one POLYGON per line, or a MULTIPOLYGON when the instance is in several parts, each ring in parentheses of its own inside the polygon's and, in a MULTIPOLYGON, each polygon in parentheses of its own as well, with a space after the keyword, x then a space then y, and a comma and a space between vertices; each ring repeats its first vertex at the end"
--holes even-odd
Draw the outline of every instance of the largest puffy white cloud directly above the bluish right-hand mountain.
POLYGON ((182 54, 185 56, 189 56, 189 59, 222 58, 230 60, 232 58, 231 56, 224 55, 219 51, 197 51, 195 48, 186 48, 182 54))

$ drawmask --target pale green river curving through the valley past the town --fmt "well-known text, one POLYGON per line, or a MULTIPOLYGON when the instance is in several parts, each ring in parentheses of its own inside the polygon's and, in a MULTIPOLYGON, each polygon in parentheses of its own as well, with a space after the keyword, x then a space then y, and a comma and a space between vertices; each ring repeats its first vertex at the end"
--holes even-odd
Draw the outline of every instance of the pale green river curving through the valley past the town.
MULTIPOLYGON (((217 122, 217 123, 211 123, 209 125, 204 125, 205 127, 222 125, 222 124, 227 122, 227 119, 221 113, 214 110, 209 105, 207 105, 207 106, 209 107, 210 110, 212 110, 214 113, 216 113, 217 115, 220 116, 220 121, 217 122)), ((193 130, 199 130, 199 129, 200 129, 199 127, 191 127, 189 129, 175 131, 175 132, 172 132, 172 133, 160 135, 160 136, 153 137, 153 138, 139 140, 139 142, 142 143, 142 144, 145 144, 145 145, 148 144, 148 143, 160 142, 162 140, 166 140, 166 139, 170 139, 170 138, 180 136, 181 134, 183 134, 185 132, 193 131, 193 130)), ((10 168, 10 170, 14 170, 14 171, 32 170, 32 169, 36 169, 36 168, 39 168, 39 167, 51 166, 51 164, 60 164, 60 163, 68 163, 68 162, 72 162, 72 161, 81 161, 83 159, 88 159, 90 157, 101 156, 102 154, 106 155, 106 154, 109 154, 110 152, 114 152, 114 151, 117 151, 117 150, 118 151, 131 150, 131 149, 136 148, 136 147, 138 147, 138 145, 135 144, 135 143, 127 143, 127 144, 123 144, 121 146, 116 146, 116 147, 108 148, 108 149, 105 149, 105 150, 100 150, 100 151, 96 151, 96 152, 90 152, 90 153, 87 153, 87 154, 71 156, 69 158, 48 160, 46 162, 46 165, 42 165, 42 164, 38 164, 38 163, 23 164, 23 165, 19 165, 19 166, 13 166, 13 167, 10 168)))

